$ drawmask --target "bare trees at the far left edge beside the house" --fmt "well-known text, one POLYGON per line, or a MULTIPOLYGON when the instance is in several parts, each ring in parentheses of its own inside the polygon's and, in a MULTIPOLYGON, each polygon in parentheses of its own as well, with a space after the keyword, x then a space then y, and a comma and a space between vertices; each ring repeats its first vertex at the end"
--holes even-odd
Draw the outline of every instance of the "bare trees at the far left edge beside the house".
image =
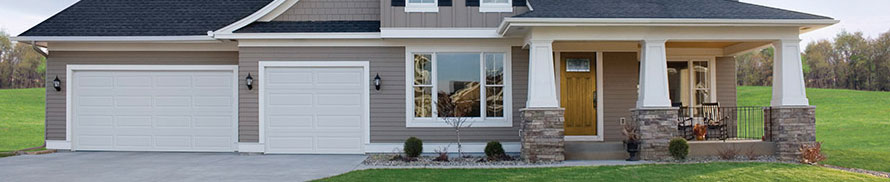
POLYGON ((46 83, 46 58, 31 45, 13 43, 0 31, 0 89, 37 88, 46 83))

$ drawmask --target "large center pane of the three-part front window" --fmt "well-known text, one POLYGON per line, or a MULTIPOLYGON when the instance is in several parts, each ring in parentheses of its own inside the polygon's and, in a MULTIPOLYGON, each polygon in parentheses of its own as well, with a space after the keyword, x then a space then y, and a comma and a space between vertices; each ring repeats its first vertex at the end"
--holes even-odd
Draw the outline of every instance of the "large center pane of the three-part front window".
POLYGON ((480 117, 479 53, 440 53, 436 58, 439 96, 451 98, 456 108, 464 111, 461 115, 480 117))

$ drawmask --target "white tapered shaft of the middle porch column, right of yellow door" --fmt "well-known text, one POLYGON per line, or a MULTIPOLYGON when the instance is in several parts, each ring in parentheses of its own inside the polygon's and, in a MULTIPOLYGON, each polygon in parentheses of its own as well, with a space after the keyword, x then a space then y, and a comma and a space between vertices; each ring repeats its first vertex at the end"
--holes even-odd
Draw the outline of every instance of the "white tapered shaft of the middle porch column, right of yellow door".
POLYGON ((642 41, 637 108, 671 107, 668 95, 666 40, 642 41))

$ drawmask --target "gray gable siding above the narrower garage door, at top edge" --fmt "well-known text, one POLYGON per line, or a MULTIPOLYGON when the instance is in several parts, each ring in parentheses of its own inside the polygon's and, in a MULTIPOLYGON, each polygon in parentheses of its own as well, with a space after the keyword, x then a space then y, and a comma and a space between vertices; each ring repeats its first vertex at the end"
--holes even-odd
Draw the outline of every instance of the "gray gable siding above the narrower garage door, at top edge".
POLYGON ((273 21, 380 20, 380 0, 300 0, 273 21))

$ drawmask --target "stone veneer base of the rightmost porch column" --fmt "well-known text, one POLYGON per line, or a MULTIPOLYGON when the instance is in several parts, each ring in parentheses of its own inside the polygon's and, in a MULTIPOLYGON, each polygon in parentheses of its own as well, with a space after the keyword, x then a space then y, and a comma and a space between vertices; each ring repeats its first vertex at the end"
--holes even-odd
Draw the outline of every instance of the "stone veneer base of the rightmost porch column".
POLYGON ((800 146, 816 143, 816 107, 770 107, 770 134, 780 160, 799 161, 800 146))

